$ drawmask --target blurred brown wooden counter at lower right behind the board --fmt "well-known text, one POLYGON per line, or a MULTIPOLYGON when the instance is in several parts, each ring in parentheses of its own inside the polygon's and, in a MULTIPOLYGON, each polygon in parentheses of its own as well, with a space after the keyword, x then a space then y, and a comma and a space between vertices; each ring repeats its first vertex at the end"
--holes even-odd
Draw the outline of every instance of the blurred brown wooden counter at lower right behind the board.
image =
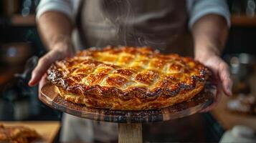
POLYGON ((212 114, 222 127, 232 129, 235 125, 245 125, 256 130, 256 116, 229 112, 227 101, 228 97, 223 95, 217 107, 212 110, 212 114))

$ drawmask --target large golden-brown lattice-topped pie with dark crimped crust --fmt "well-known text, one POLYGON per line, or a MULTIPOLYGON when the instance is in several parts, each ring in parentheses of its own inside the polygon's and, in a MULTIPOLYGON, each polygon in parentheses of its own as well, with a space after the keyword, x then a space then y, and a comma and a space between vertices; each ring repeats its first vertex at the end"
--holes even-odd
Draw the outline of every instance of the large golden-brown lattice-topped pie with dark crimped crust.
POLYGON ((107 46, 56 61, 47 74, 69 102, 100 109, 147 110, 193 98, 210 72, 199 61, 178 54, 107 46))

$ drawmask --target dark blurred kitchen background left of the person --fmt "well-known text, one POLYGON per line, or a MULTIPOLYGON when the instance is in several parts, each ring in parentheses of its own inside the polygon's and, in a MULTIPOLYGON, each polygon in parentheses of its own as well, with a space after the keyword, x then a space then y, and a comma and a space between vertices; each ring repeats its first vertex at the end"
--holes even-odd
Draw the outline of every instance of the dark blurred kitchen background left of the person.
POLYGON ((37 87, 27 86, 37 57, 45 52, 35 24, 38 4, 39 0, 0 2, 0 120, 59 119, 59 113, 39 102, 37 87))

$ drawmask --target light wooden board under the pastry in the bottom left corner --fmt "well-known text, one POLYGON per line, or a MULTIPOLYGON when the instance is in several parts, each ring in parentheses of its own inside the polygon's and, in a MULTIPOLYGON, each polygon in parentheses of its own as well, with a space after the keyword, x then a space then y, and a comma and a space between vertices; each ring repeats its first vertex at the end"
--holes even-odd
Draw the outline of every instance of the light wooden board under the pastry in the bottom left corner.
POLYGON ((53 142, 60 129, 60 122, 1 122, 4 126, 24 126, 35 129, 42 139, 37 139, 36 142, 50 143, 53 142))

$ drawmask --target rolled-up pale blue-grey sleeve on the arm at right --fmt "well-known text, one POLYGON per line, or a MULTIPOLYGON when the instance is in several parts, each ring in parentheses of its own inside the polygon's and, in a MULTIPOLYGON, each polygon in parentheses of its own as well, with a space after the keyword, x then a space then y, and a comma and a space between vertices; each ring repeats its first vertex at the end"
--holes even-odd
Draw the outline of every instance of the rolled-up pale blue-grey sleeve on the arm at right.
POLYGON ((223 16, 230 26, 230 13, 226 0, 186 0, 186 3, 189 12, 189 29, 207 14, 223 16))

